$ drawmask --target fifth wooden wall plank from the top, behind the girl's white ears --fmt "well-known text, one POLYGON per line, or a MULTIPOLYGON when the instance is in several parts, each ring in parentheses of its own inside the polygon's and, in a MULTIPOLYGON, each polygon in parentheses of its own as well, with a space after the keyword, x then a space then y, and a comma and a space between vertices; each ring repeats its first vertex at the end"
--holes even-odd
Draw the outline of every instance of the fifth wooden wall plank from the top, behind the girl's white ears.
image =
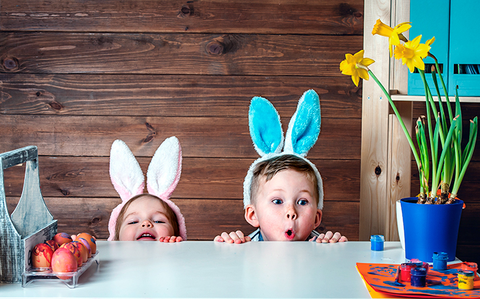
MULTIPOLYGON (((151 158, 138 158, 146 174, 151 158)), ((243 180, 254 159, 184 158, 175 198, 241 199, 243 180)), ((359 160, 311 159, 322 174, 324 200, 356 201, 360 188, 359 160)), ((108 157, 39 158, 40 187, 47 197, 118 197, 108 174, 108 157)), ((20 196, 25 167, 5 169, 5 194, 20 196)), ((147 191, 145 191, 147 192, 147 191)))

